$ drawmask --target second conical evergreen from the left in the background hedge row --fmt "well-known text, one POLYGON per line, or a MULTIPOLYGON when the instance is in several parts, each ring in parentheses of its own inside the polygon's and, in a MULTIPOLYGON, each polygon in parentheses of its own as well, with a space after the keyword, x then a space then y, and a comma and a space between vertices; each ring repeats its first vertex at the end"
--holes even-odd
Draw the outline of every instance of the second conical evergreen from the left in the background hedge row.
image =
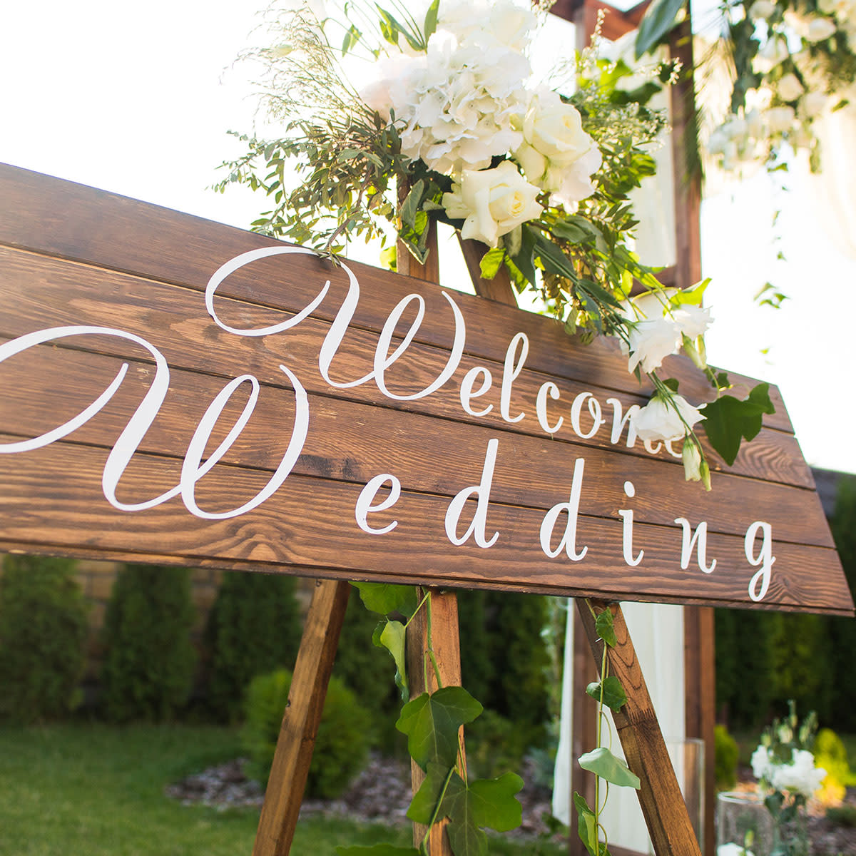
POLYGON ((163 721, 193 686, 196 651, 190 571, 126 565, 104 615, 104 715, 112 722, 163 721))

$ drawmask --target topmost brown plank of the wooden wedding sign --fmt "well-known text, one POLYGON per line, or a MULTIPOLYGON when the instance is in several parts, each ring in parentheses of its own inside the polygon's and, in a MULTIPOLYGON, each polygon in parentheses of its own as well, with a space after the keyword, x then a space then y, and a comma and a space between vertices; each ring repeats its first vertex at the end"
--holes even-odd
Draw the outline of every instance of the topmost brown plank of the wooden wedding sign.
MULTIPOLYGON (((0 244, 129 271, 197 292, 205 289, 219 265, 240 253, 282 246, 261 235, 3 165, 0 198, 8 200, 0 211, 0 244), (128 241, 128 235, 134 235, 134 241, 128 241)), ((448 348, 450 313, 442 289, 369 265, 348 265, 362 286, 354 329, 379 330, 392 306, 407 294, 418 293, 425 298, 426 312, 416 341, 448 348)), ((348 277, 343 270, 306 255, 260 259, 236 270, 218 289, 217 294, 223 296, 216 305, 218 311, 226 312, 223 301, 234 298, 255 303, 258 312, 264 312, 264 307, 297 312, 318 294, 328 277, 330 292, 312 317, 329 321, 342 304, 348 277)), ((504 360, 508 340, 496 336, 500 324, 529 337, 527 365, 532 370, 582 383, 602 383, 631 394, 651 392, 646 380, 639 385, 627 372, 627 360, 616 342, 599 338, 583 346, 569 339, 562 325, 550 318, 496 302, 485 312, 484 301, 469 294, 455 294, 455 301, 467 317, 467 353, 475 358, 504 360)), ((242 305, 241 318, 245 312, 242 305)), ((703 401, 710 397, 710 388, 689 360, 669 358, 665 366, 681 382, 687 398, 703 401)), ((755 383, 736 374, 731 377, 740 389, 755 383)), ((765 424, 792 431, 778 390, 772 389, 771 396, 776 413, 765 417, 765 424)))

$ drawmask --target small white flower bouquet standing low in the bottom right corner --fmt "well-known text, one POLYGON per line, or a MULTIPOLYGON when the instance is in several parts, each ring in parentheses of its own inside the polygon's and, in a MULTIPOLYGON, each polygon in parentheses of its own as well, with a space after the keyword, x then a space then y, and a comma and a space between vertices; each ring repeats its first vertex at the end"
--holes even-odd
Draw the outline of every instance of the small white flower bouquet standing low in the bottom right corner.
POLYGON ((812 712, 800 724, 794 702, 788 704, 788 716, 777 719, 761 735, 752 753, 752 773, 766 793, 764 805, 775 823, 772 856, 807 856, 805 804, 821 787, 826 770, 815 766, 811 752, 817 716, 812 712))

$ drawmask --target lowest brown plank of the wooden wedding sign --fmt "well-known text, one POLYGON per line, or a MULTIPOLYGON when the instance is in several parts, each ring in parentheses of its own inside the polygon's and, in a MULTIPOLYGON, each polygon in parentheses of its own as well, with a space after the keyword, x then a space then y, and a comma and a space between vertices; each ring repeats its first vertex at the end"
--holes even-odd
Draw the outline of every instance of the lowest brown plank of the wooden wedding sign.
MULTIPOLYGON (((8 440, 0 436, 0 443, 8 440)), ((128 470, 120 493, 124 502, 148 500, 175 486, 180 468, 175 459, 141 457, 139 467, 128 470)), ((101 550, 105 558, 127 550, 166 563, 207 560, 215 567, 299 574, 316 568, 318 576, 338 579, 621 595, 663 603, 746 603, 830 614, 852 609, 841 563, 827 548, 776 542, 769 590, 761 603, 752 604, 746 592, 758 568, 747 562, 740 536, 710 534, 707 558, 716 558, 717 564, 713 573, 703 574, 694 558, 681 570, 679 532, 642 523, 634 526, 633 550, 644 550, 644 561, 628 568, 622 558, 622 523, 583 518, 576 544, 588 551, 582 561, 571 562, 564 554, 550 559, 539 549, 543 512, 491 503, 485 532, 489 538, 497 532, 496 543, 485 550, 470 538, 452 549, 443 528, 446 499, 402 490, 395 506, 377 513, 377 523, 372 521, 385 526, 397 520, 398 525, 382 536, 366 537, 354 521, 359 485, 294 474, 266 502, 240 517, 202 520, 183 509, 176 515, 177 497, 145 512, 127 513, 103 501, 103 465, 103 449, 72 449, 68 443, 28 452, 26 470, 13 456, 0 455, 0 548, 51 552, 80 543, 101 550), (47 521, 45 508, 51 508, 47 521), (81 532, 86 533, 82 540, 81 532), (420 557, 419 567, 411 565, 413 556, 420 557), (628 588, 633 589, 629 594, 628 588)), ((217 465, 196 485, 199 507, 224 513, 256 496, 268 475, 217 465)), ((570 478, 566 491, 569 483, 570 478)), ((461 528, 469 520, 462 520, 461 528)))

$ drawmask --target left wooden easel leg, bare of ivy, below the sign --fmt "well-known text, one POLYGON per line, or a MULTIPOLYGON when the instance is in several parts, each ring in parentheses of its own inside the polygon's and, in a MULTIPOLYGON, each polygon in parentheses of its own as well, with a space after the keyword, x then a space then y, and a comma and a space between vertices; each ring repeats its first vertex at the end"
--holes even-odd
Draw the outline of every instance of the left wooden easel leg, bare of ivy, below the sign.
POLYGON ((350 590, 347 582, 315 582, 253 856, 288 856, 291 849, 350 590))

